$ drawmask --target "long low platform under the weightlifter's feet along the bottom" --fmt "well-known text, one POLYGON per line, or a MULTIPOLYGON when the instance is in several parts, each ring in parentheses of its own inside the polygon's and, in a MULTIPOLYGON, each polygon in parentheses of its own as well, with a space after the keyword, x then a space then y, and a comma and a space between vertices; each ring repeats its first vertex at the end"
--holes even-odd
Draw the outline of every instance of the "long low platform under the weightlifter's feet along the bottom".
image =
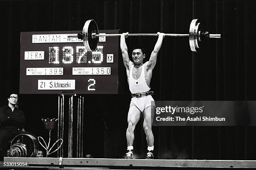
POLYGON ((142 159, 103 159, 103 158, 17 158, 5 157, 2 168, 65 170, 87 169, 219 169, 219 168, 256 168, 256 160, 142 160, 142 159), (28 166, 17 166, 27 163, 28 166), (12 166, 16 165, 16 166, 12 166))

